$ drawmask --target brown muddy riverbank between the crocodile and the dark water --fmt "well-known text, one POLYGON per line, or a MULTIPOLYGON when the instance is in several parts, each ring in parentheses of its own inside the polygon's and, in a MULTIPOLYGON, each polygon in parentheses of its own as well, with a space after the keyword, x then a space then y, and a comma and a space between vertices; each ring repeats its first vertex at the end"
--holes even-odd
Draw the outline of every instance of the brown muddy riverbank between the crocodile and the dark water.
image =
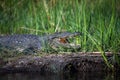
MULTIPOLYGON (((0 72, 76 73, 93 71, 120 71, 111 52, 105 53, 111 67, 99 52, 27 55, 0 59, 0 72)), ((118 57, 120 54, 118 54, 118 57)))

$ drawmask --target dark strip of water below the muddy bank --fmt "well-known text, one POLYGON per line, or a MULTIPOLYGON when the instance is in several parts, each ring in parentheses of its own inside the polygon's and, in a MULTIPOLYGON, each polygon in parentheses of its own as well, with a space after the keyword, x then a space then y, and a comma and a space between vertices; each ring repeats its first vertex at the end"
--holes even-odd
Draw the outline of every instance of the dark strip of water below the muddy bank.
POLYGON ((0 80, 120 80, 119 73, 89 72, 79 74, 46 74, 39 73, 2 73, 0 80))

